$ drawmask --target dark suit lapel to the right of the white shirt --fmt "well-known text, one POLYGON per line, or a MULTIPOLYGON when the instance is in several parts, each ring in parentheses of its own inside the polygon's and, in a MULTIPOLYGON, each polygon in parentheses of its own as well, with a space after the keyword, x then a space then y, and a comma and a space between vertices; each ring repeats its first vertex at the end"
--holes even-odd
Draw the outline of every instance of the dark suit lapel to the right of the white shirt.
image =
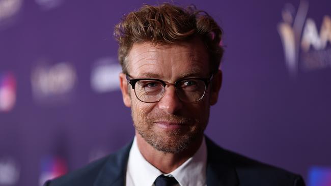
POLYGON ((207 145, 207 186, 239 185, 235 166, 225 150, 206 137, 207 145))

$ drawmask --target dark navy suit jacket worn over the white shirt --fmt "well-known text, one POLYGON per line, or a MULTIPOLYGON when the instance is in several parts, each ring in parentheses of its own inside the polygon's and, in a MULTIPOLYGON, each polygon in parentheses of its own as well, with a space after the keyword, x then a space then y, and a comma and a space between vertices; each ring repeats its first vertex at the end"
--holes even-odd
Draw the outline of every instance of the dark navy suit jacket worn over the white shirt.
MULTIPOLYGON (((207 186, 210 185, 305 185, 299 175, 275 168, 220 148, 210 139, 207 144, 207 186)), ((118 152, 72 173, 47 181, 44 186, 122 186, 132 143, 118 152)), ((139 185, 145 186, 145 185, 139 185)))

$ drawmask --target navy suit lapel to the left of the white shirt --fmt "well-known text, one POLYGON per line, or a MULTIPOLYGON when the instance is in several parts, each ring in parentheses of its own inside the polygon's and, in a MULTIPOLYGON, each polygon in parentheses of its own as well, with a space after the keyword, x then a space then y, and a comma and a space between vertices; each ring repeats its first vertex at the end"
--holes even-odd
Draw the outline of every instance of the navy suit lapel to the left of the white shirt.
POLYGON ((108 157, 102 167, 94 186, 123 186, 125 185, 126 167, 132 142, 115 154, 108 157))

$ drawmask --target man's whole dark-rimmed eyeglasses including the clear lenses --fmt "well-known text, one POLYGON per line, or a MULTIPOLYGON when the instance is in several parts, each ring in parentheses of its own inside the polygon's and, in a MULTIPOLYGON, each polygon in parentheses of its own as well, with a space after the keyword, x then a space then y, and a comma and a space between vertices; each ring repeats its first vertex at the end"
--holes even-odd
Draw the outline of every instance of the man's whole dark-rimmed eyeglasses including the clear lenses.
POLYGON ((174 85, 178 98, 183 102, 197 102, 201 100, 208 88, 213 75, 209 78, 186 78, 175 83, 166 83, 160 79, 139 78, 133 79, 126 74, 126 79, 134 89, 138 100, 145 103, 155 103, 162 99, 166 91, 166 85, 174 85))

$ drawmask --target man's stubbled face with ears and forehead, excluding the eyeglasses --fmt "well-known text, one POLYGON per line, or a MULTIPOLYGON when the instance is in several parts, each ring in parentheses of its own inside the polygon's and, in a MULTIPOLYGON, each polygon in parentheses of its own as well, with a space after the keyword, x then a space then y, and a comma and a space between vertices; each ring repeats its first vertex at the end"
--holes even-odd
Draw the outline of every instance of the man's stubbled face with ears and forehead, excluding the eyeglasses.
MULTIPOLYGON (((156 78, 166 83, 210 77, 208 61, 206 48, 199 39, 173 45, 134 44, 127 57, 132 78, 156 78)), ((124 103, 131 107, 136 135, 141 135, 155 149, 178 153, 202 137, 209 107, 216 103, 219 88, 211 90, 209 86, 202 100, 185 103, 176 95, 175 87, 167 85, 159 102, 144 103, 136 98, 124 74, 120 79, 124 103)))

